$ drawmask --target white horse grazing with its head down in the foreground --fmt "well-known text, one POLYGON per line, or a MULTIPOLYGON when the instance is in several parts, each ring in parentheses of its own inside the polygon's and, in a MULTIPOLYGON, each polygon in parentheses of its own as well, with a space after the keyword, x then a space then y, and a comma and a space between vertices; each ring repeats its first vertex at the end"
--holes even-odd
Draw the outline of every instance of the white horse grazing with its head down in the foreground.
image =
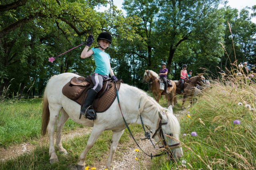
POLYGON ((158 143, 159 147, 165 147, 169 150, 172 153, 172 157, 182 157, 183 151, 179 141, 180 125, 178 119, 173 115, 172 110, 161 107, 152 97, 148 96, 142 90, 129 86, 128 84, 121 84, 118 91, 119 103, 116 98, 105 112, 97 113, 97 119, 94 121, 85 119, 84 117, 79 119, 80 105, 62 94, 63 86, 74 76, 80 77, 73 73, 62 73, 52 76, 44 91, 42 135, 45 135, 48 130, 50 163, 58 162, 53 137, 54 127, 60 111, 61 116, 57 122, 56 149, 64 154, 67 154, 67 151, 62 147, 61 131, 69 117, 76 123, 93 127, 87 145, 79 156, 80 161, 77 164, 79 170, 84 170, 86 154, 92 148, 96 139, 105 130, 112 131, 112 141, 106 168, 112 167, 118 141, 126 128, 120 109, 128 124, 142 124, 143 122, 154 133, 153 139, 158 143), (118 104, 120 104, 120 107, 118 104), (139 115, 142 116, 142 122, 139 115), (174 138, 168 138, 163 134, 170 135, 174 138))

